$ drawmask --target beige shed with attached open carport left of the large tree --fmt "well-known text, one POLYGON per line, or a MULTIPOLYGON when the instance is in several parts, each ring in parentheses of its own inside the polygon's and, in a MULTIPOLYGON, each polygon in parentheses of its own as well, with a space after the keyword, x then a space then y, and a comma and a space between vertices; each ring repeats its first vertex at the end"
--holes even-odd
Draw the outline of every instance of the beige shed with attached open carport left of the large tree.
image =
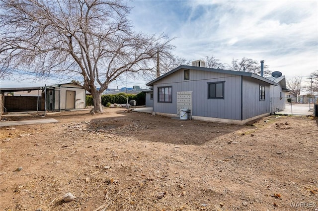
POLYGON ((0 88, 3 111, 39 111, 85 108, 85 90, 73 83, 43 87, 0 88), (33 95, 27 93, 33 92, 33 95), (34 94, 35 93, 35 94, 34 94))

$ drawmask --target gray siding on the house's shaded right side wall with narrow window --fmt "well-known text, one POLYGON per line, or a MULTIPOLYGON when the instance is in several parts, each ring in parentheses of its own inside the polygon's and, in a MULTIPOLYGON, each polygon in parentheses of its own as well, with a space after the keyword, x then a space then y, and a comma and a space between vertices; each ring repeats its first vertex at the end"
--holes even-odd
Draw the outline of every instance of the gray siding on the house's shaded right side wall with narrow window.
POLYGON ((243 77, 242 120, 270 113, 270 85, 259 80, 243 77), (265 87, 265 101, 259 100, 259 85, 265 87))

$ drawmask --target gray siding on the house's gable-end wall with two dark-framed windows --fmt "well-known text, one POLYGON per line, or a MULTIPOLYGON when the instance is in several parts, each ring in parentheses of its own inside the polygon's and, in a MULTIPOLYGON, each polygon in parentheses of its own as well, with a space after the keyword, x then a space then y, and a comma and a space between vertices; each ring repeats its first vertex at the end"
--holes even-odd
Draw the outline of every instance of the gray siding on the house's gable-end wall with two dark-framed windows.
POLYGON ((191 115, 240 120, 240 76, 190 69, 190 80, 183 79, 179 70, 154 83, 155 112, 176 114, 176 93, 192 91, 191 115), (225 81, 224 99, 208 99, 207 83, 218 81, 225 81), (158 87, 166 86, 172 87, 172 103, 159 103, 158 87))

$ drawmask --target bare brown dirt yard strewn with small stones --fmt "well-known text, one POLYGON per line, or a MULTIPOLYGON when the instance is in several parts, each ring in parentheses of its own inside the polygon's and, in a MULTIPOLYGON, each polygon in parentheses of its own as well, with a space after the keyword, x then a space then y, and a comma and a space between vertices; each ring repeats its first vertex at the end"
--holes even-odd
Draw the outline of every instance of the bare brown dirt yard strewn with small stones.
POLYGON ((317 211, 318 120, 275 117, 243 126, 124 108, 9 117, 60 122, 0 128, 0 210, 317 211), (64 202, 69 192, 76 199, 64 202))

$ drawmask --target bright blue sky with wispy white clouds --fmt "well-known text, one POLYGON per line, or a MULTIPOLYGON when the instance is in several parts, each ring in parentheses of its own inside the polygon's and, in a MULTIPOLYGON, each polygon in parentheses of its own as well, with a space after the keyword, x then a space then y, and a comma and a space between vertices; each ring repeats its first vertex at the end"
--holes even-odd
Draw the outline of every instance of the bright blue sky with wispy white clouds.
MULTIPOLYGON (((134 7, 129 18, 135 31, 175 37, 174 54, 187 60, 212 55, 227 64, 242 57, 265 60, 270 70, 282 72, 287 79, 305 79, 318 69, 317 0, 135 0, 128 4, 134 7)), ((127 86, 145 87, 147 82, 129 79, 127 86)), ((117 81, 110 88, 125 83, 117 81)))

